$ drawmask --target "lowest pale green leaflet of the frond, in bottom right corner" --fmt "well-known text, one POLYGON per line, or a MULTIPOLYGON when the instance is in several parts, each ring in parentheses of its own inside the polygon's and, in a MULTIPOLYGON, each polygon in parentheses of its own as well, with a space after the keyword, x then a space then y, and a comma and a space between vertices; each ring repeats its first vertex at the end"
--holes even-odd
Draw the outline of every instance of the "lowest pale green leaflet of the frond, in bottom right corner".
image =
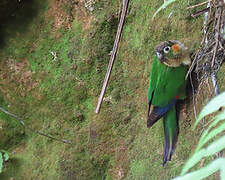
MULTIPOLYGON (((208 176, 210 176, 211 174, 215 173, 218 170, 221 170, 221 172, 223 172, 225 169, 225 158, 219 158, 216 159, 215 161, 211 162, 208 166, 203 167, 197 171, 188 173, 184 176, 180 176, 177 177, 173 180, 190 180, 190 179, 204 179, 208 176)), ((221 179, 224 179, 224 173, 220 174, 221 179)))

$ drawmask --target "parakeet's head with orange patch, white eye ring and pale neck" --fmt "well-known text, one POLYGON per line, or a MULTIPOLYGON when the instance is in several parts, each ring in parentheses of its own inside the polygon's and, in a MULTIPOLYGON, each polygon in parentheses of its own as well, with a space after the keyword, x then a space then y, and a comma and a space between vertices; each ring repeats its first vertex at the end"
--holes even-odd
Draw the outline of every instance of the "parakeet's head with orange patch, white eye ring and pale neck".
POLYGON ((188 48, 179 41, 164 41, 156 47, 155 53, 158 60, 169 67, 191 64, 188 48))

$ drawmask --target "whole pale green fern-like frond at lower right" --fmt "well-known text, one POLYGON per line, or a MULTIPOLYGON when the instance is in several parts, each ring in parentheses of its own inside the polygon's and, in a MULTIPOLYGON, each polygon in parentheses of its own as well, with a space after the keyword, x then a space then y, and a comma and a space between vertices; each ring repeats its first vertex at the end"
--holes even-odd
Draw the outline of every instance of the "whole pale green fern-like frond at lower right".
MULTIPOLYGON (((195 122, 194 128, 199 121, 205 116, 212 114, 219 109, 225 107, 225 92, 212 99, 201 111, 198 119, 195 122)), ((202 167, 196 171, 188 171, 199 163, 203 158, 215 156, 225 149, 225 110, 216 115, 211 121, 208 128, 203 132, 195 153, 187 161, 182 169, 181 176, 174 180, 189 180, 189 179, 203 179, 216 171, 220 170, 220 179, 225 179, 225 158, 216 158, 207 166, 202 167), (207 147, 204 147, 208 142, 207 147)))

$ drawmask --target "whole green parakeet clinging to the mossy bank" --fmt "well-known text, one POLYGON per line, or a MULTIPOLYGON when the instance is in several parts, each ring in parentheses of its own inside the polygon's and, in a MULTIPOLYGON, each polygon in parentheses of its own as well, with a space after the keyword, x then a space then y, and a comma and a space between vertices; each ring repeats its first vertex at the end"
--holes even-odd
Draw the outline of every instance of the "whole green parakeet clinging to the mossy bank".
POLYGON ((176 102, 186 97, 187 65, 191 63, 187 48, 179 41, 160 43, 155 49, 148 89, 147 127, 163 117, 163 166, 176 148, 179 127, 176 102))

